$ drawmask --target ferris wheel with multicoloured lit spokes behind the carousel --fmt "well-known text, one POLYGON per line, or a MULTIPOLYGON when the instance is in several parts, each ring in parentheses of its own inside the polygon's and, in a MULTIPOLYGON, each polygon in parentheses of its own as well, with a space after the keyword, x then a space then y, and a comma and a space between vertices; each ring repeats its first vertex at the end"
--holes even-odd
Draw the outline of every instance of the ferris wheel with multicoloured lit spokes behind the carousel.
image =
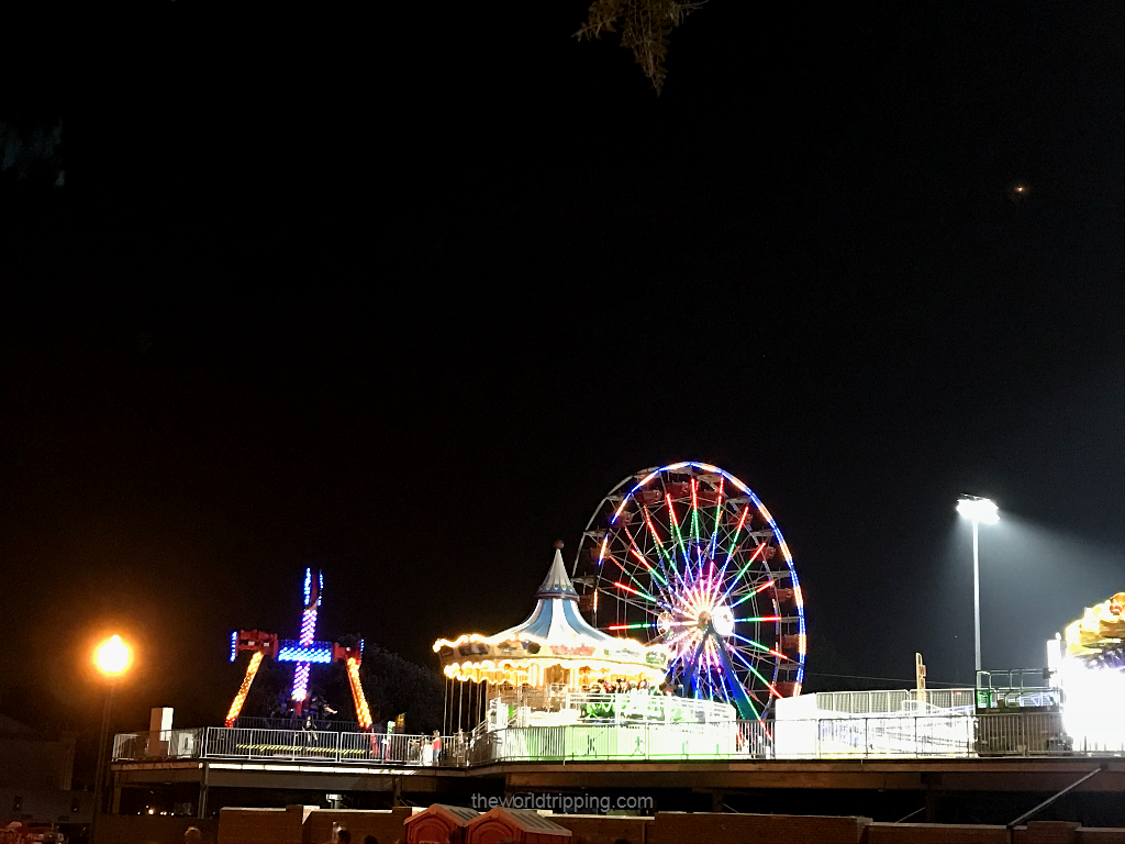
POLYGON ((804 679, 804 600, 765 504, 718 466, 630 475, 594 511, 574 562, 594 627, 672 652, 683 694, 766 718, 804 679))

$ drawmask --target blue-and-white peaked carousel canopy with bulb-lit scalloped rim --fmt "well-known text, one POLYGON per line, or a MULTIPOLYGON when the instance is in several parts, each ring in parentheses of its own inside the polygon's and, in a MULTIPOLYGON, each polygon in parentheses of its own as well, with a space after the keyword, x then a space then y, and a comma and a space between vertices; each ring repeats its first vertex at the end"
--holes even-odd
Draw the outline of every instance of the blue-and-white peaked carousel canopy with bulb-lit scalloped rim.
POLYGON ((446 675, 531 685, 566 682, 573 686, 586 679, 621 676, 650 683, 664 679, 669 656, 664 645, 618 638, 583 618, 578 593, 558 549, 536 599, 532 613, 507 630, 435 641, 433 649, 446 675))

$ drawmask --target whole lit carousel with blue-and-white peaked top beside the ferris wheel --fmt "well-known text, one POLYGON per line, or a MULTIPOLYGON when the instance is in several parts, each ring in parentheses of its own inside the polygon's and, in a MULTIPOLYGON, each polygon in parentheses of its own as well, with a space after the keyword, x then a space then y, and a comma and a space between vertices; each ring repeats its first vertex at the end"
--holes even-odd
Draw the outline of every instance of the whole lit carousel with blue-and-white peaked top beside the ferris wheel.
POLYGON ((433 645, 456 686, 452 700, 447 694, 450 722, 471 730, 465 746, 472 761, 729 753, 734 707, 673 695, 665 684, 672 653, 663 641, 644 645, 587 622, 560 549, 556 542, 536 609, 522 623, 433 645))

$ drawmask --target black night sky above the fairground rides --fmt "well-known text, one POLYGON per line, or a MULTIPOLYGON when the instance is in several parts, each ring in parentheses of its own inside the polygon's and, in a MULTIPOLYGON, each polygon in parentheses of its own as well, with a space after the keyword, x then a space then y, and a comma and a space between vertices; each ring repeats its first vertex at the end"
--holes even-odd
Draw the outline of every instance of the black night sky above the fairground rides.
POLYGON ((0 711, 92 722, 123 629, 119 726, 217 724, 308 564, 430 659, 677 459, 777 518, 810 686, 971 680, 961 493, 1042 664, 1125 586, 1122 11, 713 0, 660 97, 580 2, 6 27, 65 186, 0 181, 0 711))

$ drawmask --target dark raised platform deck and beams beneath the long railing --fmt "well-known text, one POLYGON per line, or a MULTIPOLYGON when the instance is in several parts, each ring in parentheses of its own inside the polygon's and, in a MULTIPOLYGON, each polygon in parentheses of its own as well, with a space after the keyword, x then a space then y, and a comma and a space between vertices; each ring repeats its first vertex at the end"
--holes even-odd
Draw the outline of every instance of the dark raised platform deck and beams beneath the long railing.
POLYGON ((115 814, 161 815, 190 807, 204 820, 228 807, 390 809, 440 802, 487 809, 506 799, 514 806, 561 808, 559 801, 570 797, 572 805, 595 811, 623 807, 644 815, 855 815, 878 821, 1005 826, 1065 792, 1033 819, 1125 826, 1120 758, 507 763, 469 769, 200 758, 115 762, 112 780, 115 814), (539 802, 529 803, 529 796, 539 796, 539 802))

